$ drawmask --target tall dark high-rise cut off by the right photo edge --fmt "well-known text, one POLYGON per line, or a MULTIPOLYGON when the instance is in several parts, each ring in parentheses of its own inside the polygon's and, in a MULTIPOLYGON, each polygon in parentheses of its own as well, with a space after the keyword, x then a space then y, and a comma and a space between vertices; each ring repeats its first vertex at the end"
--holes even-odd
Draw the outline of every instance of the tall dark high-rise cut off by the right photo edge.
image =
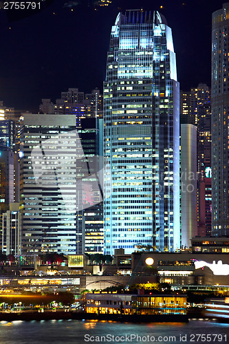
POLYGON ((212 235, 229 235, 229 3, 212 14, 212 235))

